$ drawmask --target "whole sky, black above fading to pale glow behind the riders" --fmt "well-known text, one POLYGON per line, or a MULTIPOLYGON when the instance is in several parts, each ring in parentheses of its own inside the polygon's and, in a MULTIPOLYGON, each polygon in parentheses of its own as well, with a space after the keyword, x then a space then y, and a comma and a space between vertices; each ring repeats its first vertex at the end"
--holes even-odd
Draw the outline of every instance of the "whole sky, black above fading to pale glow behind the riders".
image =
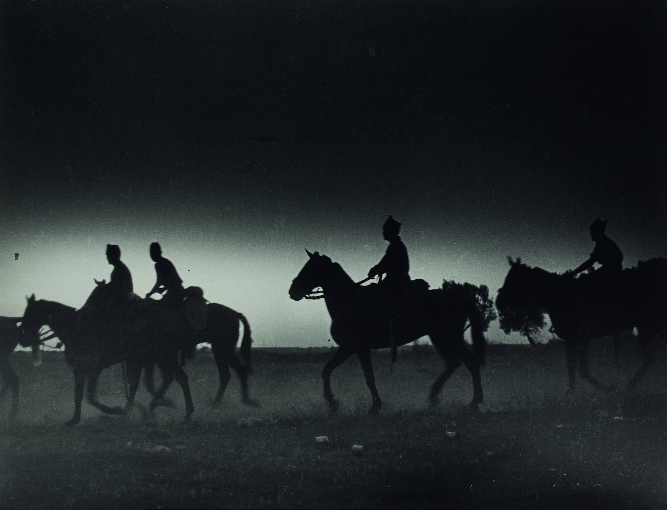
POLYGON ((0 7, 0 314, 81 306, 107 242, 143 295, 157 240, 258 344, 325 344, 303 248, 360 280, 388 214, 433 287, 574 268, 596 216, 667 256, 664 2, 0 7))

